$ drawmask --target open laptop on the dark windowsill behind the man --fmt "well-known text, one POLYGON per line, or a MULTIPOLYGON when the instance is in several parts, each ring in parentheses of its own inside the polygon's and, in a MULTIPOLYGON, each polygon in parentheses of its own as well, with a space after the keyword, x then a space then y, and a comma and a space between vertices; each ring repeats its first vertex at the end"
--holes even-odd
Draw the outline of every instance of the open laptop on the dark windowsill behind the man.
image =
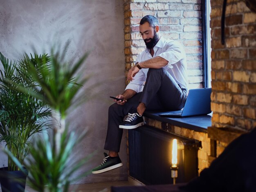
POLYGON ((161 117, 186 117, 211 113, 211 88, 190 89, 184 108, 159 114, 161 117))

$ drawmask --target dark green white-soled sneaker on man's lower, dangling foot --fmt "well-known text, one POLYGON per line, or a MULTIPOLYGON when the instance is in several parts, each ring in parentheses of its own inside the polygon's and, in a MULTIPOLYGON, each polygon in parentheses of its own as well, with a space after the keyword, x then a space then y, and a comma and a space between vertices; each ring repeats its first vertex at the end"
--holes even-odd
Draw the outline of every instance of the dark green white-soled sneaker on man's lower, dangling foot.
POLYGON ((106 171, 113 170, 117 167, 123 166, 123 163, 122 163, 121 159, 119 158, 119 156, 110 157, 106 153, 104 153, 104 155, 105 155, 105 158, 103 159, 103 162, 101 163, 101 165, 99 165, 99 167, 96 167, 92 170, 92 174, 103 173, 106 171))

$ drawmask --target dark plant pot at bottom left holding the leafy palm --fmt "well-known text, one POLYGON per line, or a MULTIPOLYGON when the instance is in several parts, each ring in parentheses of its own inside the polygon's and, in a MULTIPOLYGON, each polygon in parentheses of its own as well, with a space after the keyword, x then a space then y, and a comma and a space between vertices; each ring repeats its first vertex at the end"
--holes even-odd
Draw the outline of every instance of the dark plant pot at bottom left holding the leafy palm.
POLYGON ((24 192, 28 171, 8 171, 8 167, 0 168, 0 184, 2 192, 24 192))

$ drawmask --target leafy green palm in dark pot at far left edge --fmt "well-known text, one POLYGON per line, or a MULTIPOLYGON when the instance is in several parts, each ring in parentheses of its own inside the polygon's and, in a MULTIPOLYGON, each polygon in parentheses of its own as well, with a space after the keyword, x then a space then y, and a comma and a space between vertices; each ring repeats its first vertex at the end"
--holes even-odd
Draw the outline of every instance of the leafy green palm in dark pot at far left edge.
MULTIPOLYGON (((35 55, 36 56, 36 55, 35 55)), ((40 60, 49 60, 47 55, 36 56, 40 60)), ((31 63, 34 58, 31 58, 31 63)), ((36 133, 49 127, 47 118, 51 116, 50 109, 38 98, 20 92, 17 86, 31 89, 34 79, 25 73, 26 63, 22 60, 11 62, 0 52, 2 69, 0 70, 0 143, 23 163, 31 146, 31 139, 36 133), (9 82, 11 80, 13 83, 9 82)), ((37 65, 34 65, 37 69, 37 65)), ((24 191, 26 171, 20 171, 11 158, 8 165, 0 168, 0 183, 2 191, 24 191), (16 182, 13 174, 23 182, 16 182), (13 184, 16 183, 16 184, 13 184)))

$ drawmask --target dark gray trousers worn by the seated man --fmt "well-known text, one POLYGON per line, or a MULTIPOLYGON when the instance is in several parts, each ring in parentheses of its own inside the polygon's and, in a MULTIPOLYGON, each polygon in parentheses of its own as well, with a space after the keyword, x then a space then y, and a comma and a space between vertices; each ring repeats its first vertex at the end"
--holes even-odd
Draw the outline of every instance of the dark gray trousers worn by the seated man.
POLYGON ((146 110, 180 110, 186 101, 186 90, 181 89, 173 77, 163 68, 149 69, 143 92, 135 94, 124 105, 114 103, 108 109, 108 131, 105 150, 119 152, 123 129, 119 124, 130 109, 145 103, 146 110))

